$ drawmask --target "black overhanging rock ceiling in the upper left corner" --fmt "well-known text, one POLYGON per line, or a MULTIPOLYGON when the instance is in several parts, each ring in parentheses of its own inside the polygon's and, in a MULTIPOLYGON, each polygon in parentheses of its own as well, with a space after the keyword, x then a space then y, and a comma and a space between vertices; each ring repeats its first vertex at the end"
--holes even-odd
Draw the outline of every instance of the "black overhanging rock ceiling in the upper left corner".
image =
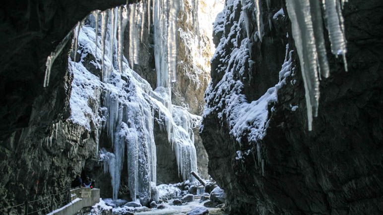
POLYGON ((52 91, 57 76, 63 76, 57 71, 60 62, 54 63, 51 86, 43 89, 47 57, 74 25, 94 9, 104 10, 126 2, 23 0, 1 7, 0 103, 6 104, 0 109, 1 140, 28 125, 36 97, 52 91))

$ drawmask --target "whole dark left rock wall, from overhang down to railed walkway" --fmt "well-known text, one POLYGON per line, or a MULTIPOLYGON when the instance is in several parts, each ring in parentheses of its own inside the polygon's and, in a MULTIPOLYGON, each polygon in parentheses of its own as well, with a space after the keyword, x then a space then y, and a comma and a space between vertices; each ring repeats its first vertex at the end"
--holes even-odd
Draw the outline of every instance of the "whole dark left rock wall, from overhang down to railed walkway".
POLYGON ((124 3, 42 0, 1 6, 0 208, 61 192, 95 150, 91 138, 81 141, 93 134, 70 123, 59 124, 69 115, 70 42, 54 62, 50 85, 44 89, 45 63, 77 21, 96 8, 124 3), (76 156, 69 155, 74 144, 78 144, 76 156))

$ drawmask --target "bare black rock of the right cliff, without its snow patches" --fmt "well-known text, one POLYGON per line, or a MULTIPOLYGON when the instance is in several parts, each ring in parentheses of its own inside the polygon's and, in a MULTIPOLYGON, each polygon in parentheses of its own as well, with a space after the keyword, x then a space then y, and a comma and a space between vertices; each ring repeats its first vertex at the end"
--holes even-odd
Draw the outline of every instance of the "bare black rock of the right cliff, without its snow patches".
MULTIPOLYGON (((266 8, 266 2, 261 3, 266 8)), ((255 69, 249 71, 253 81, 248 84, 243 76, 236 76, 244 82, 242 94, 248 101, 257 100, 278 83, 285 45, 294 48, 293 39, 286 38, 286 33, 292 35, 286 8, 286 18, 273 19, 272 30, 268 30, 266 17, 284 7, 281 3, 272 1, 270 13, 263 10, 265 35, 262 43, 251 45, 255 69)), ((256 154, 245 157, 243 162, 235 159, 238 150, 256 152, 255 145, 235 141, 227 121, 217 116, 222 109, 205 115, 200 135, 209 156, 209 174, 225 190, 232 213, 383 212, 382 6, 379 0, 345 3, 348 72, 342 60, 329 52, 326 41, 330 77, 320 83, 319 116, 314 118, 312 132, 307 127, 305 91, 294 48, 295 76, 288 77, 288 84, 278 91, 278 102, 269 105, 268 128, 259 140, 263 176, 256 154), (290 84, 292 80, 297 80, 294 85, 290 84), (290 105, 298 109, 292 111, 290 105)), ((236 13, 233 20, 238 19, 236 13)), ((233 44, 228 46, 226 50, 233 44)), ((213 61, 213 86, 222 78, 217 69, 218 62, 213 61)))

